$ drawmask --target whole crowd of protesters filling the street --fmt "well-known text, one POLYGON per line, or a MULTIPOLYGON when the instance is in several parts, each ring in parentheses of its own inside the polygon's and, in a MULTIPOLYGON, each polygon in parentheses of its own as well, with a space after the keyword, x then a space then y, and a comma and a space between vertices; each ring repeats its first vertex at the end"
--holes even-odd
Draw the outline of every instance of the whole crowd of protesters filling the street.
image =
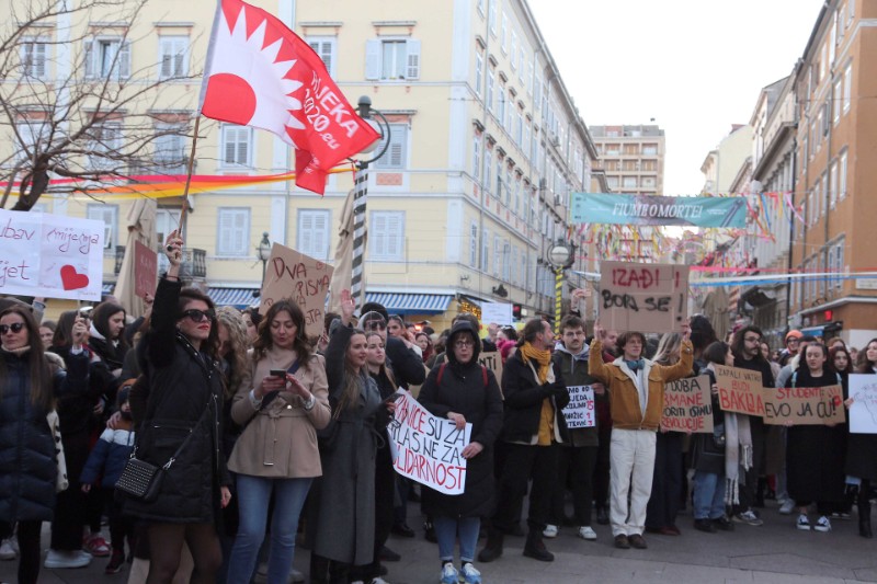
POLYGON ((758 371, 765 388, 840 385, 850 406, 848 375, 877 373, 877 339, 856 352, 789 331, 772 352, 758 328, 726 343, 701 316, 658 339, 599 323, 589 335, 576 314, 557 336, 532 319, 482 337, 470 314, 436 334, 375 304, 356 319, 346 291, 309 337, 292 300, 241 312, 183 287, 182 245, 172 232, 169 270, 134 322, 112 298, 57 322, 41 322, 38 302, 0 299, 0 559, 19 558, 21 583, 37 582, 50 522, 46 568, 106 557, 107 574, 133 563, 132 583, 285 583, 305 580, 293 568, 300 541, 310 582, 386 584, 385 563, 400 558, 389 535, 415 535, 417 500, 444 584, 480 583, 476 563, 498 561, 510 535, 544 562, 561 529, 596 540, 592 522, 611 525, 615 547, 645 549, 646 534, 686 528, 687 505, 710 534, 762 525, 771 496, 801 530, 828 533, 855 507, 872 537, 877 435, 724 412, 715 369, 758 371), (479 362, 492 351, 501 379, 479 362), (665 383, 696 375, 710 380, 713 433, 661 430, 665 383), (568 388, 586 386, 594 423, 568 427, 568 388), (471 424, 463 494, 395 472, 399 388, 471 424), (115 488, 133 459, 162 468, 157 495, 115 488))

